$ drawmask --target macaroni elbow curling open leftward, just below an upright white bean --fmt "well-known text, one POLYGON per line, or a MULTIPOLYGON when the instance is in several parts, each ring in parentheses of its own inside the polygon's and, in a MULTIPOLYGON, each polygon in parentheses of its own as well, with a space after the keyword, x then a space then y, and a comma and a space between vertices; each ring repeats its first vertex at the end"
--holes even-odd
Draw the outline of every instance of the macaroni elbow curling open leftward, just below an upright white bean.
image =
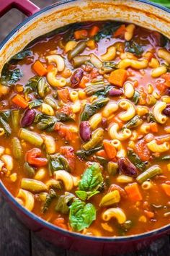
POLYGON ((131 103, 128 100, 122 100, 119 103, 120 108, 125 109, 126 111, 124 113, 119 114, 119 118, 122 121, 129 121, 135 116, 135 107, 133 106, 133 103, 131 103))

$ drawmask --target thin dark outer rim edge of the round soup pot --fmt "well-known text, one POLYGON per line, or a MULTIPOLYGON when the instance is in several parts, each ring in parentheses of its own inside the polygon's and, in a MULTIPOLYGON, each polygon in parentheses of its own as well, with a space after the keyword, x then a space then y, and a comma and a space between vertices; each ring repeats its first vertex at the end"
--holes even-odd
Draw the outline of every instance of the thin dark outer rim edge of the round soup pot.
MULTIPOLYGON (((4 38, 4 40, 0 43, 0 50, 1 50, 1 48, 3 48, 3 46, 6 44, 6 42, 10 38, 12 38, 12 36, 22 26, 27 24, 27 22, 30 22, 32 19, 39 16, 43 12, 46 12, 46 11, 48 11, 50 9, 53 9, 55 7, 58 7, 60 5, 68 4, 68 3, 71 3, 71 2, 74 2, 74 1, 76 2, 76 1, 79 1, 79 0, 61 0, 61 1, 58 1, 55 4, 52 4, 48 7, 40 9, 40 11, 35 12, 35 14, 32 14, 30 17, 27 17, 23 22, 21 22, 19 25, 17 25, 17 27, 15 27, 14 30, 12 30, 12 32, 9 33, 9 35, 6 36, 6 38, 4 38)), ((137 1, 137 2, 143 3, 143 4, 151 5, 153 7, 161 9, 163 11, 166 11, 170 14, 170 9, 168 9, 167 7, 163 7, 159 4, 156 4, 154 2, 151 2, 151 1, 148 1, 148 0, 134 0, 134 1, 137 1)), ((128 242, 129 240, 130 240, 130 242, 132 242, 134 240, 145 239, 149 236, 155 236, 155 235, 158 235, 158 234, 161 234, 161 233, 166 233, 167 231, 170 231, 170 224, 167 224, 166 226, 163 226, 163 227, 158 228, 158 229, 153 229, 152 231, 148 231, 148 232, 141 233, 141 234, 130 235, 130 236, 114 236, 114 237, 112 237, 112 236, 86 236, 84 234, 80 234, 80 233, 76 233, 76 232, 73 232, 73 231, 67 231, 65 229, 61 229, 60 227, 55 226, 52 223, 49 223, 48 221, 43 220, 39 216, 35 215, 35 213, 30 212, 29 210, 24 208, 22 205, 20 205, 19 202, 17 202, 17 200, 15 200, 14 196, 11 194, 11 192, 9 192, 8 189, 6 189, 6 187, 4 186, 4 184, 1 181, 0 181, 0 191, 2 192, 4 197, 6 197, 6 199, 9 200, 9 202, 12 202, 12 204, 14 206, 16 206, 17 208, 19 208, 19 210, 22 211, 22 213, 24 213, 26 216, 28 216, 29 218, 32 218, 32 220, 41 224, 45 228, 48 228, 48 229, 53 230, 53 231, 59 231, 60 233, 62 233, 63 235, 66 235, 66 236, 69 235, 69 236, 73 236, 75 238, 86 239, 86 240, 91 240, 91 241, 95 241, 95 242, 128 242)))

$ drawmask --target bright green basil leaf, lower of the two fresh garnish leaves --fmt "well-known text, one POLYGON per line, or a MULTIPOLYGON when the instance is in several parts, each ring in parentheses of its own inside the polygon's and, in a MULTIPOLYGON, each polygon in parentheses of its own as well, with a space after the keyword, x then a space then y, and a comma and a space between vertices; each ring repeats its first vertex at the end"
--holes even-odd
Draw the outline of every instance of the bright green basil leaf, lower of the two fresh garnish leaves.
POLYGON ((69 223, 74 231, 88 228, 96 219, 96 209, 91 203, 76 199, 70 207, 69 223))

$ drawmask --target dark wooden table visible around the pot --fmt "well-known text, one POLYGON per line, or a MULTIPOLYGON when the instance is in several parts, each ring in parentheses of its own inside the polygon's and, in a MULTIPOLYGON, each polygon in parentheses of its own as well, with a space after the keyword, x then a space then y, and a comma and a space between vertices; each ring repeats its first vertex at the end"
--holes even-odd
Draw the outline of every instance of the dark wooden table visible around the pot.
MULTIPOLYGON (((21 0, 22 1, 22 0, 21 0)), ((53 4, 55 0, 32 0, 39 7, 53 4)), ((1 4, 1 0, 0 0, 1 4)), ((12 9, 0 18, 0 41, 24 20, 24 14, 12 9)), ((150 247, 138 252, 117 256, 170 256, 169 236, 158 239, 150 247)), ((14 211, 9 208, 0 195, 0 256, 83 256, 77 252, 53 246, 37 237, 17 219, 14 211)), ((87 256, 87 255, 86 255, 87 256)), ((90 256, 90 255, 89 255, 90 256)), ((107 256, 107 255, 104 255, 107 256)))

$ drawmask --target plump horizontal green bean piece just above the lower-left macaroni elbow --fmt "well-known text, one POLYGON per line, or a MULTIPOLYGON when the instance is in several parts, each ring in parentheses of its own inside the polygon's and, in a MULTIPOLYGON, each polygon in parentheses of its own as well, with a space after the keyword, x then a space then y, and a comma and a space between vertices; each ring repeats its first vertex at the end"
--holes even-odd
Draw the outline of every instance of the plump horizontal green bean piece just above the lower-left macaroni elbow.
POLYGON ((26 189, 33 193, 44 192, 48 190, 47 186, 43 182, 37 181, 36 179, 23 178, 21 187, 22 189, 26 189))

